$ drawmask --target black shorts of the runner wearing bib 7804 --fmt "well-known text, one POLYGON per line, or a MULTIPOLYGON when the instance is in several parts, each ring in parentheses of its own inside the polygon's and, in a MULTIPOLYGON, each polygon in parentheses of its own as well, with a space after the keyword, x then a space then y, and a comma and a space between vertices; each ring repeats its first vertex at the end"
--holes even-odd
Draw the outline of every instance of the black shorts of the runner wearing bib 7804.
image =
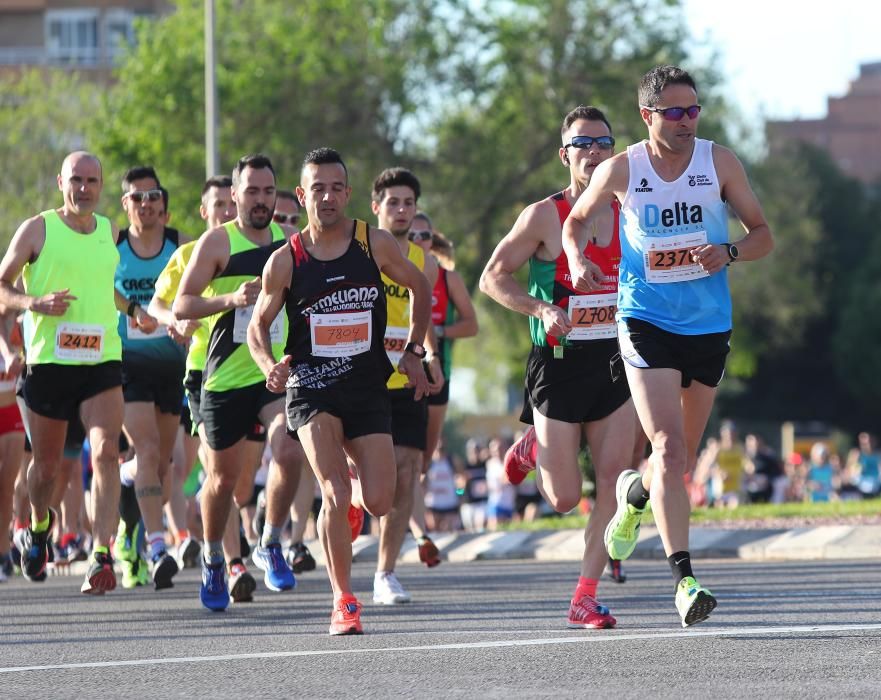
POLYGON ((339 418, 346 440, 392 432, 392 409, 384 383, 356 387, 342 381, 322 389, 287 390, 288 434, 294 439, 298 439, 297 430, 319 413, 339 418))

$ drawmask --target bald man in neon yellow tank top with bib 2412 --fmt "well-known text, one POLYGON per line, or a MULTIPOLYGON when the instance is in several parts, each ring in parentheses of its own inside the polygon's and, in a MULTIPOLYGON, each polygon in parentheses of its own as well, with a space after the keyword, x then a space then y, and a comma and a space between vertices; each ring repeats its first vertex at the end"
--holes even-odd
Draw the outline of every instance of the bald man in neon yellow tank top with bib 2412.
MULTIPOLYGON (((83 593, 116 587, 108 549, 118 521, 119 433, 122 430, 121 345, 114 294, 118 232, 95 214, 101 196, 101 163, 77 151, 58 175, 64 197, 58 209, 25 221, 0 263, 0 304, 25 310, 28 373, 24 384, 34 463, 28 477, 31 526, 18 542, 22 569, 44 580, 54 513, 49 501, 61 463, 69 421, 82 419, 92 444, 94 549, 83 593), (13 285, 19 275, 25 291, 13 285)), ((135 311, 149 330, 146 312, 135 311)))

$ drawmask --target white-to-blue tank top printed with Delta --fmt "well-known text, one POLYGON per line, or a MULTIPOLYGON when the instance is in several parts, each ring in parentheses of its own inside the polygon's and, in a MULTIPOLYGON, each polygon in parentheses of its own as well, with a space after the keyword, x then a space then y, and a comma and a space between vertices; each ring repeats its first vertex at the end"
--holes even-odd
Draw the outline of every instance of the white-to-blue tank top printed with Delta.
POLYGON ((618 320, 637 318, 680 335, 731 330, 727 268, 707 275, 688 255, 701 243, 728 241, 713 142, 695 139, 691 162, 673 182, 657 175, 645 141, 628 147, 627 161, 618 320))

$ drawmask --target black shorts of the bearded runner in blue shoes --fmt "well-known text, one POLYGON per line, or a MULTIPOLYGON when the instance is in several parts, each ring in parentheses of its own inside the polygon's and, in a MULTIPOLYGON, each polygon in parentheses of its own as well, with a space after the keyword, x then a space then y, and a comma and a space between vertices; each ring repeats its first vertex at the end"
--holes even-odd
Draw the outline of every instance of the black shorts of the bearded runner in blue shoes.
POLYGON ((273 394, 264 382, 229 391, 202 390, 199 412, 212 450, 225 450, 254 432, 260 411, 284 397, 273 394))

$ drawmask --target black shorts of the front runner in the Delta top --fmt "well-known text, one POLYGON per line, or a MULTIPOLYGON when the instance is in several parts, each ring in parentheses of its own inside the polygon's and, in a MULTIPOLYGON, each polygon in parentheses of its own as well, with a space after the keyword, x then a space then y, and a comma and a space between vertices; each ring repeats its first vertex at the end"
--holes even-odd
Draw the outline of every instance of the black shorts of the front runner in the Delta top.
POLYGON ((675 369, 682 373, 682 387, 692 381, 719 386, 725 374, 725 358, 731 331, 703 335, 680 335, 636 318, 618 323, 621 357, 640 369, 675 369))

